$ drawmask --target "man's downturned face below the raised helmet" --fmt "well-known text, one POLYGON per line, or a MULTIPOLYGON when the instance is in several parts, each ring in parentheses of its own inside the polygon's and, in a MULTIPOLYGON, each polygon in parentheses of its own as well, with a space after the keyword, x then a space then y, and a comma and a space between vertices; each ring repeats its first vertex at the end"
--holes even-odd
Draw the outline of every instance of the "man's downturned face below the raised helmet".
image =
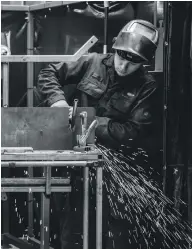
POLYGON ((129 55, 128 53, 121 50, 115 52, 115 57, 114 57, 115 71, 121 77, 132 74, 137 69, 139 69, 141 65, 143 65, 144 63, 143 61, 140 60, 140 58, 133 58, 131 55, 129 58, 128 55, 129 55))

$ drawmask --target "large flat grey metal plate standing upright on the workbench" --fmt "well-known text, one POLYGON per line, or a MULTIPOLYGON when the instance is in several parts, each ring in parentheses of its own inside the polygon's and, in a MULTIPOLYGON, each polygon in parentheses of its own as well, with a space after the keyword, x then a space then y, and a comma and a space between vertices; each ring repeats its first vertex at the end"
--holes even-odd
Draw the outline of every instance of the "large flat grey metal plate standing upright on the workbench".
MULTIPOLYGON (((1 146, 32 147, 34 150, 71 150, 75 145, 72 144, 73 137, 76 137, 81 129, 79 113, 82 111, 88 113, 88 124, 95 118, 94 108, 77 108, 76 129, 72 133, 69 129, 68 108, 2 108, 1 146)), ((89 143, 94 143, 94 133, 90 136, 89 143)))

